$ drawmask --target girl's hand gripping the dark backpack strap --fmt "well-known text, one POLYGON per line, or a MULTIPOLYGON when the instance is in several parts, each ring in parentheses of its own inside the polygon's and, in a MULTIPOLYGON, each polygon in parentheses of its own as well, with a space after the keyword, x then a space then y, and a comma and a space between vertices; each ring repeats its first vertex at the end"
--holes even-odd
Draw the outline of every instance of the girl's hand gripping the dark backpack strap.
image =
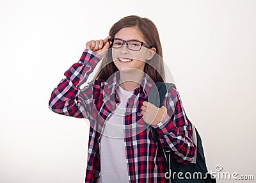
POLYGON ((156 107, 150 102, 144 101, 141 107, 141 115, 143 120, 149 125, 156 125, 161 122, 167 116, 166 107, 162 106, 161 108, 156 107))

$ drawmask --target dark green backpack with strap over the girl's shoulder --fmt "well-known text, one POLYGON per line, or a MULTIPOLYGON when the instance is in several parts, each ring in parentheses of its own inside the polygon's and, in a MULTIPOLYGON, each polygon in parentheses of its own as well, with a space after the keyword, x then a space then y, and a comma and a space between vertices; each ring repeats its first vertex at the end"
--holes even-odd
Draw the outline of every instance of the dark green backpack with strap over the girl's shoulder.
MULTIPOLYGON (((163 83, 157 81, 155 84, 153 84, 152 88, 150 88, 150 92, 148 93, 148 102, 155 104, 157 107, 161 107, 166 91, 170 87, 176 88, 175 84, 173 83, 163 83)), ((161 146, 156 129, 150 127, 150 131, 154 141, 161 146)), ((186 165, 180 164, 173 159, 173 152, 170 149, 165 149, 162 147, 159 148, 159 152, 164 156, 165 159, 164 166, 166 167, 166 180, 169 180, 172 183, 216 182, 216 179, 213 179, 211 174, 208 173, 202 140, 193 124, 192 131, 193 143, 196 145, 195 159, 193 162, 186 165)))

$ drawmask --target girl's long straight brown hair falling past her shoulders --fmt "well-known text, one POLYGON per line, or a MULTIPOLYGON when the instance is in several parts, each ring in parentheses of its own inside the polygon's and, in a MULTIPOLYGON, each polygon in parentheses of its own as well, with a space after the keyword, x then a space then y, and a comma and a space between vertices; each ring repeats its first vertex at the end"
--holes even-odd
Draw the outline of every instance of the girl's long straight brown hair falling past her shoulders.
MULTIPOLYGON (((163 52, 162 46, 159 38, 159 34, 155 24, 147 19, 141 18, 136 15, 130 15, 120 19, 116 22, 112 28, 109 30, 109 36, 115 38, 116 33, 123 28, 136 27, 140 29, 145 42, 152 47, 156 48, 156 54, 151 60, 145 63, 144 72, 150 76, 154 82, 165 80, 164 65, 163 65, 163 52)), ((94 79, 103 79, 107 81, 109 76, 118 71, 115 63, 112 61, 111 49, 108 49, 106 56, 102 59, 100 63, 99 70, 94 79)))

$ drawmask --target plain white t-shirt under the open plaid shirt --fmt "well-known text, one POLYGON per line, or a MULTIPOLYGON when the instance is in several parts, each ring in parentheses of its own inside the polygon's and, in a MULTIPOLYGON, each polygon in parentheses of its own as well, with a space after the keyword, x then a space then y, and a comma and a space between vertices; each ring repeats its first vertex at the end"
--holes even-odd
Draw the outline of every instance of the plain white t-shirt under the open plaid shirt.
POLYGON ((126 91, 120 86, 116 88, 120 103, 106 122, 100 138, 100 183, 129 182, 125 155, 124 114, 127 99, 132 93, 133 91, 126 91))

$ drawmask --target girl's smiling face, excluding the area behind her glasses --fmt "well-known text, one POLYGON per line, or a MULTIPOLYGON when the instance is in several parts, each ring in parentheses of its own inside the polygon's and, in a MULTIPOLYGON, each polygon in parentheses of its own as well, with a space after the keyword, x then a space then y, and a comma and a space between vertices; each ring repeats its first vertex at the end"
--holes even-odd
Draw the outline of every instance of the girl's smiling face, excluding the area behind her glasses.
MULTIPOLYGON (((145 42, 140 29, 136 27, 121 29, 116 33, 115 38, 145 42)), ((132 51, 127 48, 127 44, 125 43, 121 48, 113 48, 112 56, 113 61, 119 70, 125 71, 132 68, 144 71, 145 61, 150 60, 154 56, 154 52, 156 52, 155 48, 147 49, 143 46, 140 51, 132 51)))

